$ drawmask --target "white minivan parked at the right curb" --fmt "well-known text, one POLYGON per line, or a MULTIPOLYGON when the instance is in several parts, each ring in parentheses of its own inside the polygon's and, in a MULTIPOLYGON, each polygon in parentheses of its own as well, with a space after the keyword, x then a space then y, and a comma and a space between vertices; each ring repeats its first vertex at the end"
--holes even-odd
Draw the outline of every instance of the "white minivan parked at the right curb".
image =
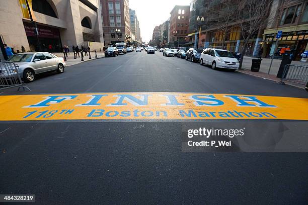
POLYGON ((216 48, 206 48, 201 53, 200 64, 211 65, 212 69, 216 68, 228 68, 237 70, 239 69, 240 63, 230 51, 216 49, 216 48))

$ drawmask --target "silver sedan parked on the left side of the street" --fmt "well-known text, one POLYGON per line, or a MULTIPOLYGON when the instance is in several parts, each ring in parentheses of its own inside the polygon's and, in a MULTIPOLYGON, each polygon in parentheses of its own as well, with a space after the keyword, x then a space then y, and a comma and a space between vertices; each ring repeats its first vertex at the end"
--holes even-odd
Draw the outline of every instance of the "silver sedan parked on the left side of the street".
MULTIPOLYGON (((57 71, 64 72, 65 62, 62 57, 57 57, 47 52, 18 53, 11 56, 8 61, 17 64, 18 73, 25 82, 33 82, 39 73, 57 71)), ((6 73, 0 75, 6 77, 6 73)))

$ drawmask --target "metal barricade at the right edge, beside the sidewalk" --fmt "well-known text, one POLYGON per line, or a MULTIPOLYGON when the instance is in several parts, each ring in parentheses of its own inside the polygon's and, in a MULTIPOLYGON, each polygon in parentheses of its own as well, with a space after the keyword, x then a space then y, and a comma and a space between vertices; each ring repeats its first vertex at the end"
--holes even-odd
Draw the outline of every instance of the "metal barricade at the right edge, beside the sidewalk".
POLYGON ((307 84, 308 65, 285 65, 280 83, 284 84, 283 81, 307 84))

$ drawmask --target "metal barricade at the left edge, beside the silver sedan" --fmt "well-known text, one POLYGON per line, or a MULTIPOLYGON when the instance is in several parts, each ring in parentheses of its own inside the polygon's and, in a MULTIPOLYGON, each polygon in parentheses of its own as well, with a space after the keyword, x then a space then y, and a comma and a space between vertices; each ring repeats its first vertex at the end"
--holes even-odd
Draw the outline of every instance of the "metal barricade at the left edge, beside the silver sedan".
POLYGON ((23 81, 18 73, 18 65, 13 62, 0 62, 0 90, 10 87, 28 89, 27 86, 23 85, 23 81))

